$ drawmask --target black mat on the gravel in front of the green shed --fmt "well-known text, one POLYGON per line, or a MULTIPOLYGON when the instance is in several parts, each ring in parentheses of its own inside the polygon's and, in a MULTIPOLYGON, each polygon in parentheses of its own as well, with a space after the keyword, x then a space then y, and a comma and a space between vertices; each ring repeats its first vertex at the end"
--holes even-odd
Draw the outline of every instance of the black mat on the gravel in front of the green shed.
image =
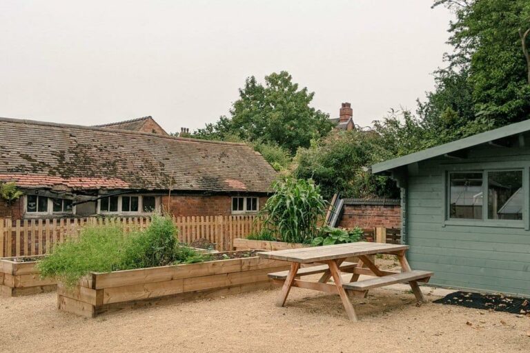
POLYGON ((511 312, 512 314, 530 316, 530 300, 513 296, 454 292, 447 294, 442 299, 433 301, 433 303, 472 307, 473 309, 494 310, 496 312, 511 312))

